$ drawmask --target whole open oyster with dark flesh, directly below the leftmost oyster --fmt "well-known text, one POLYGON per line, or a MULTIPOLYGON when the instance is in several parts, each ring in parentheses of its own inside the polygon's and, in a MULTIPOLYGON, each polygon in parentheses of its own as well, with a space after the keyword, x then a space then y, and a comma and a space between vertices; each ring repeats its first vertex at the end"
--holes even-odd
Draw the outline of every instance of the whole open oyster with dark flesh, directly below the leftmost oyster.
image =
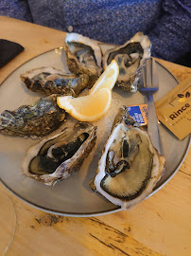
POLYGON ((22 173, 45 185, 54 185, 79 171, 96 143, 96 127, 78 122, 65 124, 60 134, 46 137, 26 151, 22 173))

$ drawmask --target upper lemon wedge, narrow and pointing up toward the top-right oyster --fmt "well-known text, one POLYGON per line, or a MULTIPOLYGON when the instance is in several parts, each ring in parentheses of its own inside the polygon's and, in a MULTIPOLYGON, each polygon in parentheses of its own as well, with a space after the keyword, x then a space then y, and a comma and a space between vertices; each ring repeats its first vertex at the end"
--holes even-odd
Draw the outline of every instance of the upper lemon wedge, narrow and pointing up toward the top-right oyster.
POLYGON ((95 93, 99 89, 109 88, 113 89, 113 86, 117 80, 119 74, 119 66, 113 60, 111 64, 109 64, 106 70, 102 73, 99 79, 96 81, 89 94, 95 93))

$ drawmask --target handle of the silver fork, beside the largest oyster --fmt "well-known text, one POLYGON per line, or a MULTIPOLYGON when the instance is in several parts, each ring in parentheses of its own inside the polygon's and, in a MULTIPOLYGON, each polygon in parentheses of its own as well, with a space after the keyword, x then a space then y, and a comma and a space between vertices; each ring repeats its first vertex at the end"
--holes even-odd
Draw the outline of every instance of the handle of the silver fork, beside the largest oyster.
POLYGON ((152 95, 148 95, 148 135, 158 153, 163 155, 158 119, 152 95))

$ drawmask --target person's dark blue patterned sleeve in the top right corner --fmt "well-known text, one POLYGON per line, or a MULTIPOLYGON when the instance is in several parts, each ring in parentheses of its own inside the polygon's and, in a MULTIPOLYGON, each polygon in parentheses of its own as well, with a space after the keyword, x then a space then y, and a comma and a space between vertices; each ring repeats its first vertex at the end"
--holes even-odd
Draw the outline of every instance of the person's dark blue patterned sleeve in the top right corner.
POLYGON ((148 33, 152 56, 171 62, 191 50, 190 0, 164 0, 164 13, 148 33))

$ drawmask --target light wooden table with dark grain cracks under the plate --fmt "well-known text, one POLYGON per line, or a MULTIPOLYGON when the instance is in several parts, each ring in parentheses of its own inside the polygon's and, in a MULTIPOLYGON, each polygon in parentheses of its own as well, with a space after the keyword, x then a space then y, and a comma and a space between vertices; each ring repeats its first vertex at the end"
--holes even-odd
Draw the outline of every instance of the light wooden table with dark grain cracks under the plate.
MULTIPOLYGON (((27 60, 62 46, 65 33, 0 16, 0 37, 25 51, 0 69, 0 82, 27 60)), ((181 82, 191 69, 158 60, 181 82)), ((17 215, 6 255, 191 255, 191 151, 177 174, 159 192, 129 211, 89 218, 45 213, 7 193, 17 215)), ((0 226, 9 222, 0 212, 0 226)), ((8 230, 0 233, 4 241, 8 230)))

